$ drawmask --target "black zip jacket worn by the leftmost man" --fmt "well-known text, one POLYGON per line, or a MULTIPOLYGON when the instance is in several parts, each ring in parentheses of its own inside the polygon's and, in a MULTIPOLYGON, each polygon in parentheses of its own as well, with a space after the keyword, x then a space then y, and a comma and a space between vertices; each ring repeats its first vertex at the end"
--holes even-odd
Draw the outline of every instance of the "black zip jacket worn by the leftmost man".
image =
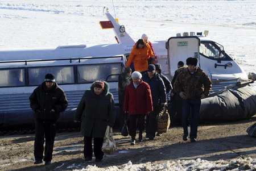
POLYGON ((60 112, 67 109, 68 100, 65 92, 57 83, 51 89, 46 89, 46 82, 36 87, 30 95, 30 107, 34 111, 35 119, 56 121, 60 112), (54 110, 51 111, 51 110, 54 110))

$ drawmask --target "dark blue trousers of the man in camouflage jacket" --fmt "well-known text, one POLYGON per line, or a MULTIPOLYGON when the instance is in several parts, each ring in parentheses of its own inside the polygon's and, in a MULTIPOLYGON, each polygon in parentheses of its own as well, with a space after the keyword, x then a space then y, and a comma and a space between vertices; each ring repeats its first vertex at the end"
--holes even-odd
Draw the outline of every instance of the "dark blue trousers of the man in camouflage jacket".
POLYGON ((188 99, 183 100, 182 103, 182 126, 185 135, 188 135, 188 127, 190 122, 190 138, 197 137, 197 127, 199 124, 199 114, 200 114, 201 99, 188 99), (191 120, 189 120, 189 115, 191 114, 191 120))

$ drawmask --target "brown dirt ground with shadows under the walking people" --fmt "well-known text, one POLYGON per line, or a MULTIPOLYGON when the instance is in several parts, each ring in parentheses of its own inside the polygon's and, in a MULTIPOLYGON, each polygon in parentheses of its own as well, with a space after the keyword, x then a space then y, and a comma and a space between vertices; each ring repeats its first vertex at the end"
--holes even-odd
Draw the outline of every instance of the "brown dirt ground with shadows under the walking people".
MULTIPOLYGON (((161 164, 172 160, 204 159, 232 160, 238 157, 256 159, 256 138, 247 135, 246 128, 256 122, 256 116, 237 122, 201 124, 196 143, 183 141, 180 126, 171 127, 163 136, 144 140, 134 146, 130 137, 115 132, 118 151, 105 155, 101 162, 83 159, 83 141, 79 132, 58 133, 53 151, 53 164, 34 165, 34 135, 0 136, 0 170, 72 170, 97 165, 99 168, 133 164, 161 164)), ((137 140, 138 141, 138 140, 137 140)))

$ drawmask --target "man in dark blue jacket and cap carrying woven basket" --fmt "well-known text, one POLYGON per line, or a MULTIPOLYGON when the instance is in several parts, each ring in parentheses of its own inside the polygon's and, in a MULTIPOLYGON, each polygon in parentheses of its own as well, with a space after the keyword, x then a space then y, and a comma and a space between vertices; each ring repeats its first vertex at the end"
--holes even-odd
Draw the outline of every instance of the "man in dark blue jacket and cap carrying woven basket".
POLYGON ((150 140, 153 140, 156 132, 156 116, 167 102, 166 87, 162 78, 155 72, 155 65, 153 64, 148 65, 147 73, 143 74, 142 80, 150 85, 152 94, 153 111, 146 118, 146 134, 150 140))

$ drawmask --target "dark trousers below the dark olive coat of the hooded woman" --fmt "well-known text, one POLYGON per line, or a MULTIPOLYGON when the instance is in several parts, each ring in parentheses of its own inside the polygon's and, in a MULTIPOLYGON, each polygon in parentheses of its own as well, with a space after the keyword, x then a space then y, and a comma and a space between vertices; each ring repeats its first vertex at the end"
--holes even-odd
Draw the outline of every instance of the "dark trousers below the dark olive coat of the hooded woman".
POLYGON ((103 144, 103 137, 94 137, 93 138, 93 148, 92 148, 92 137, 84 137, 84 158, 90 157, 92 159, 92 153, 96 159, 103 159, 104 153, 101 151, 103 144))

